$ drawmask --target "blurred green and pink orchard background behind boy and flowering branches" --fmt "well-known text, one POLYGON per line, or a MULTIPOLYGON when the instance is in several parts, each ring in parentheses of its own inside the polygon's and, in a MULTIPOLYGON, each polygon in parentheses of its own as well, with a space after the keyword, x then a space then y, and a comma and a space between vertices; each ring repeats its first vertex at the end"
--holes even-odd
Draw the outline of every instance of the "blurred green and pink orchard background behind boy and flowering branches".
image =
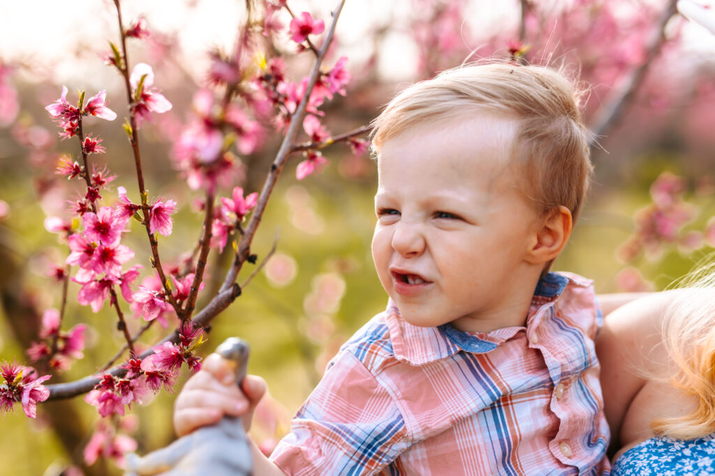
MULTIPOLYGON (((243 14, 240 1, 157 3, 163 8, 122 2, 127 18, 146 14, 152 31, 148 41, 132 44, 130 57, 152 64, 155 83, 174 104, 170 113, 156 116, 141 131, 147 188, 152 195, 179 203, 174 233, 159 240, 162 259, 171 262, 192 248, 202 219, 194 211, 198 195, 172 170, 172 141, 189 115, 192 94, 205 83, 209 65, 205 52, 230 45, 243 14), (209 31, 222 31, 224 36, 210 36, 209 31)), ((622 113, 593 148, 596 173, 588 203, 555 269, 593 278, 599 293, 663 289, 715 245, 711 218, 715 208, 713 41, 698 26, 676 16, 666 23, 664 38, 657 40, 659 21, 671 5, 663 1, 523 0, 498 7, 495 3, 348 1, 327 64, 332 66, 338 57, 347 55, 352 81, 347 96, 336 96, 324 108, 325 124, 334 134, 362 126, 405 84, 465 59, 493 54, 502 58, 524 54, 534 63, 564 64, 573 74, 580 71, 590 88, 588 122, 595 124, 633 71, 647 66, 633 96, 623 101, 622 113), (657 48, 650 55, 654 44, 657 48)), ((312 11, 326 22, 332 7, 307 1, 289 1, 289 5, 293 11, 312 11)), ((44 18, 51 15, 51 8, 56 6, 36 14, 44 18)), ((0 85, 13 88, 19 103, 15 112, 8 102, 0 107, 4 114, 0 116, 0 200, 4 203, 0 285, 21 293, 40 310, 59 307, 61 285, 46 273, 50 263, 61 263, 66 257, 66 245, 42 226, 46 216, 64 213, 68 184, 54 176, 54 163, 60 153, 74 153, 76 147, 56 138, 44 111, 58 96, 61 84, 69 87, 70 94, 77 88, 92 94, 107 88, 110 106, 119 119, 114 123, 88 121, 89 127, 104 138, 107 154, 99 156, 99 161, 119 176, 114 186, 135 188, 129 146, 118 123, 125 107, 124 93, 119 77, 99 59, 107 49, 107 39, 117 36, 116 20, 109 1, 87 8, 80 20, 77 6, 66 2, 57 11, 59 17, 51 19, 57 24, 56 38, 45 36, 42 41, 64 42, 61 52, 44 51, 42 42, 29 47, 38 42, 32 36, 6 39, 0 45, 4 71, 0 85)), ((0 17, 0 26, 6 24, 11 31, 9 16, 0 17)), ((295 44, 290 46, 280 38, 276 45, 285 54, 293 79, 299 79, 309 66, 305 55, 296 56, 295 44)), ((4 97, 7 101, 8 96, 4 97)), ((247 192, 260 190, 277 151, 280 137, 270 125, 265 131, 262 146, 240 157, 245 177, 236 184, 247 192)), ((352 156, 342 144, 324 153, 330 164, 303 181, 297 181, 294 174, 300 158, 296 154, 289 161, 252 247, 259 263, 274 244, 275 253, 240 298, 215 320, 202 348, 205 355, 230 335, 250 341, 250 372, 267 380, 273 397, 286 409, 268 411, 271 415, 263 418, 265 438, 285 431, 285 418, 310 392, 327 360, 386 303, 370 257, 375 163, 366 155, 352 156)), ((221 193, 228 196, 230 189, 221 193)), ((136 261, 145 263, 142 275, 146 275, 146 238, 138 223, 131 223, 131 230, 126 244, 137 251, 136 261)), ((222 269, 231 255, 230 246, 221 255, 212 254, 207 288, 214 288, 212 280, 222 281, 222 269)), ((242 270, 238 282, 244 282, 253 270, 255 266, 242 270)), ((71 284, 65 325, 86 322, 91 332, 85 358, 62 376, 66 381, 94 373, 123 342, 109 306, 92 313, 77 304, 77 289, 71 284)), ((199 295, 199 308, 208 295, 199 295)), ((18 330, 8 324, 6 315, 2 317, 0 360, 24 361, 18 330)), ((27 332, 36 332, 36 322, 22 325, 27 332)), ((134 330, 139 320, 131 319, 129 325, 134 330)), ((144 345, 168 331, 154 326, 143 339, 144 345)), ((53 378, 49 383, 56 381, 53 378)), ((139 452, 165 445, 174 437, 173 399, 174 395, 162 392, 151 405, 134 406, 135 417, 124 419, 122 425, 139 443, 139 452)), ((67 462, 82 461, 83 445, 67 452, 51 431, 49 412, 68 412, 73 419, 69 425, 85 443, 97 425, 94 407, 81 397, 69 404, 41 405, 36 420, 28 420, 17 410, 0 417, 4 455, 0 474, 59 474, 67 462), (60 405, 70 405, 77 413, 60 405)), ((107 461, 84 470, 87 474, 117 471, 107 461)))

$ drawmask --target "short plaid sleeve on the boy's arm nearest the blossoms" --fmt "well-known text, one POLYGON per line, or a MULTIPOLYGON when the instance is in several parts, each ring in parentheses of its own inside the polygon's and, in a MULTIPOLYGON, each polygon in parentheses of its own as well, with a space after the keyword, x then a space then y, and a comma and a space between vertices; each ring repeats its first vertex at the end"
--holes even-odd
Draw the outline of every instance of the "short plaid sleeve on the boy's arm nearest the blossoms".
POLYGON ((348 351, 335 358, 271 460, 287 475, 370 475, 409 446, 388 391, 348 351))

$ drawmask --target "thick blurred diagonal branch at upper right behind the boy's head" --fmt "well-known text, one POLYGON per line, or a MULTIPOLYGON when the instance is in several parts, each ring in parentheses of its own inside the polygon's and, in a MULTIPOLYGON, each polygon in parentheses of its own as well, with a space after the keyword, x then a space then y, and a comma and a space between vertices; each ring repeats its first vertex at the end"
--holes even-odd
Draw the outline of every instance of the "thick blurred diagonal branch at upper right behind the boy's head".
POLYGON ((663 11, 661 18, 658 22, 657 34, 649 48, 646 50, 646 59, 641 63, 640 66, 636 67, 631 71, 631 75, 628 79, 623 82, 620 91, 616 96, 611 99, 611 101, 601 108, 601 111, 597 114, 596 120, 593 121, 593 126, 591 131, 593 131, 593 136, 591 137, 591 142, 589 145, 593 146, 598 138, 603 136, 609 129, 613 128, 618 117, 623 113, 623 109, 626 104, 631 101, 633 95, 638 90, 638 86, 643 82, 646 71, 648 71, 649 66, 651 66, 654 58, 661 51, 661 46, 665 42, 665 29, 668 21, 672 16, 676 14, 676 0, 670 0, 668 6, 663 11))

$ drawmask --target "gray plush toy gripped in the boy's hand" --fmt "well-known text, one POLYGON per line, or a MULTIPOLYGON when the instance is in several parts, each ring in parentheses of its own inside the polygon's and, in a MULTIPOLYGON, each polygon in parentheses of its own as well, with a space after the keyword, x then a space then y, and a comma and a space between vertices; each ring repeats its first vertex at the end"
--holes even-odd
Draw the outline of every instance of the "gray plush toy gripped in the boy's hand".
MULTIPOLYGON (((238 385, 246 376, 249 347, 245 340, 228 338, 216 352, 235 366, 238 385)), ((216 425, 202 427, 171 445, 139 457, 127 455, 127 476, 252 474, 251 450, 240 418, 223 417, 216 425)))

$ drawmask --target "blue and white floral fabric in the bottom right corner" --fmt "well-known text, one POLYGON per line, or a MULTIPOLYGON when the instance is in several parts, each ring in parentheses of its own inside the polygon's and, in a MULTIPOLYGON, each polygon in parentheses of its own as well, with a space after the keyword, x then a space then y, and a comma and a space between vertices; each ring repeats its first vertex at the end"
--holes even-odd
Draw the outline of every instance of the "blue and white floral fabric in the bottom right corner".
POLYGON ((715 433, 696 440, 655 437, 619 456, 611 476, 715 475, 715 433))

